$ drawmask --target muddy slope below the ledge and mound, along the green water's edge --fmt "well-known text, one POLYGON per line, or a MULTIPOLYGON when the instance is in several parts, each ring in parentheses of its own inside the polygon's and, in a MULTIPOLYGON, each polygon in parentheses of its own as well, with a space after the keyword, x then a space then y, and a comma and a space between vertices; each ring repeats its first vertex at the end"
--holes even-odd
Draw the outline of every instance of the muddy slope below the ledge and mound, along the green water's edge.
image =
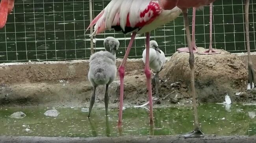
MULTIPOLYGON (((124 86, 124 107, 142 105, 148 101, 145 75, 125 76, 124 86)), ((187 85, 182 81, 172 82, 161 77, 160 100, 153 101, 154 107, 163 106, 184 106, 191 105, 192 99, 187 85)), ((1 107, 20 106, 46 106, 46 107, 89 107, 92 87, 89 81, 74 82, 64 81, 58 83, 23 83, 0 85, 1 107)), ((234 89, 231 96, 233 103, 256 101, 256 88, 236 95, 239 89, 234 89)), ((96 89, 95 107, 104 108, 105 86, 96 89)), ((117 78, 109 85, 109 108, 119 107, 119 79, 117 78)), ((153 88, 154 95, 155 90, 153 88)), ((211 92, 208 93, 211 95, 211 92)), ((223 102, 226 94, 218 95, 215 102, 223 102)), ((198 95, 200 97, 200 95, 198 95)), ((198 98, 199 103, 205 102, 198 98)), ((215 99, 215 98, 214 98, 215 99)))

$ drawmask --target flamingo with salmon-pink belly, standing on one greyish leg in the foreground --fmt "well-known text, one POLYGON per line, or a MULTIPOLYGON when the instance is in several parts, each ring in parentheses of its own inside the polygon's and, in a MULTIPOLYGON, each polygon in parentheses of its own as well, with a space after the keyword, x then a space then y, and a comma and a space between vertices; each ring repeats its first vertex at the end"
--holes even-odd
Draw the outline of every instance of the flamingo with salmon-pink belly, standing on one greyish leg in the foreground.
POLYGON ((200 129, 199 122, 198 122, 198 114, 197 114, 197 100, 195 95, 195 69, 194 69, 194 63, 195 63, 195 57, 194 52, 191 44, 191 36, 189 31, 189 22, 187 18, 187 9, 191 7, 200 8, 204 5, 211 4, 215 0, 163 0, 163 9, 173 9, 173 7, 178 6, 180 9, 182 9, 183 17, 184 17, 184 25, 186 28, 186 36, 187 36, 187 45, 189 47, 189 67, 190 67, 190 77, 191 77, 191 94, 193 96, 193 109, 194 109, 194 115, 195 115, 195 129, 192 132, 189 132, 188 134, 184 135, 185 138, 189 137, 204 137, 204 133, 200 129))

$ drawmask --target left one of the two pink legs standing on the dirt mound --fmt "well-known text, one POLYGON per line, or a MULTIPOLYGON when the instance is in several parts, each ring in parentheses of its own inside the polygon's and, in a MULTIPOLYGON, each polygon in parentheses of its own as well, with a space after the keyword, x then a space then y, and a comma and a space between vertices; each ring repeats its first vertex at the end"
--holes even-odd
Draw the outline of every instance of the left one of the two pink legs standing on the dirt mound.
MULTIPOLYGON (((193 18, 192 18, 192 48, 193 52, 197 53, 197 46, 195 41, 195 17, 196 17, 196 8, 193 7, 193 18)), ((188 47, 177 49, 179 52, 189 52, 188 47)))

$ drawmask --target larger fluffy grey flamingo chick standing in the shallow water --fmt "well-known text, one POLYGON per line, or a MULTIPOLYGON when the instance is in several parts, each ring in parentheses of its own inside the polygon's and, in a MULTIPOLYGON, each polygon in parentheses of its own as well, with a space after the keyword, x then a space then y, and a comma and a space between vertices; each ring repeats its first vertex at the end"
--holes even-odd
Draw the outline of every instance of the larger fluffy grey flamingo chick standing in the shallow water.
POLYGON ((105 47, 107 51, 95 52, 89 60, 88 79, 93 86, 93 94, 91 96, 88 118, 95 102, 95 91, 98 85, 106 85, 104 102, 106 116, 108 115, 108 86, 115 80, 117 74, 115 52, 119 47, 119 41, 113 37, 108 37, 104 40, 104 45, 108 45, 108 47, 105 47))

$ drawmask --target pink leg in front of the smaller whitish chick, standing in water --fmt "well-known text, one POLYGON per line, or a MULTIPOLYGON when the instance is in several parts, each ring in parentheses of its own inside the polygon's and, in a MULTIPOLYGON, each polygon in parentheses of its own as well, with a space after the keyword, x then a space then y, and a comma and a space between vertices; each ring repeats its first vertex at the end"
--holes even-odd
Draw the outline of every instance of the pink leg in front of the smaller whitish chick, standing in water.
POLYGON ((146 63, 145 63, 145 75, 147 77, 148 87, 148 100, 149 100, 149 114, 150 114, 150 125, 153 125, 153 102, 152 102, 152 88, 151 88, 151 71, 149 68, 149 40, 150 33, 146 33, 146 63))

